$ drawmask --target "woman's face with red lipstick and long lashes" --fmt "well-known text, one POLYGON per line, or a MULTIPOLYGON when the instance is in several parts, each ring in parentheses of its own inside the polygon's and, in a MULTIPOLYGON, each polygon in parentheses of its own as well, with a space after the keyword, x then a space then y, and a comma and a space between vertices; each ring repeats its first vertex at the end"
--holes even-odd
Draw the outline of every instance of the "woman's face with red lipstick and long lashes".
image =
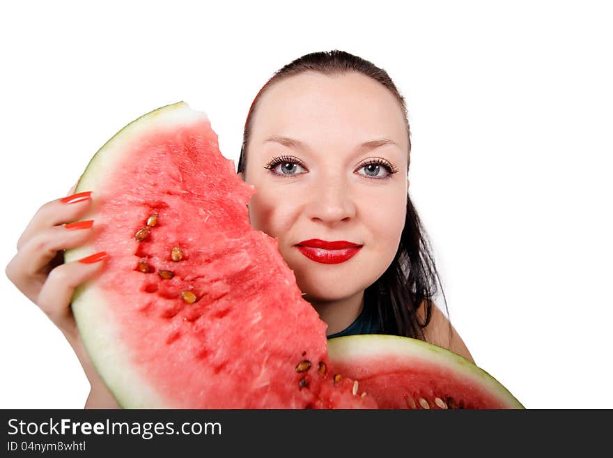
POLYGON ((302 73, 261 96, 247 145, 249 218, 279 239, 305 299, 350 298, 391 264, 405 222, 407 150, 398 101, 364 75, 302 73), (313 239, 358 246, 304 246, 313 239))

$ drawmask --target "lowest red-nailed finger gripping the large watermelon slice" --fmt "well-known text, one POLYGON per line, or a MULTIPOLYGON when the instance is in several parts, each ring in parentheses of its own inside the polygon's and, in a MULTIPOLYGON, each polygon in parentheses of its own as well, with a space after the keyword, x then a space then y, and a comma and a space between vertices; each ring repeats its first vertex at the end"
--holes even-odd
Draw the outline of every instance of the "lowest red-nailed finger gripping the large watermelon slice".
POLYGON ((57 266, 49 273, 47 281, 40 290, 37 299, 40 310, 65 333, 76 333, 70 300, 79 284, 90 280, 102 270, 105 257, 98 258, 98 261, 91 264, 74 261, 57 266))

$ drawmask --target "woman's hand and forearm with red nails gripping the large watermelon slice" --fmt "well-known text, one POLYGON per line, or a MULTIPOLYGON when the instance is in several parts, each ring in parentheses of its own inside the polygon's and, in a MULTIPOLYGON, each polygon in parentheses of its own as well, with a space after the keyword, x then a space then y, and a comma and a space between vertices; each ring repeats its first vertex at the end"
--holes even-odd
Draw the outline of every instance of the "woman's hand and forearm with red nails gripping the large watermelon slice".
POLYGON ((105 254, 63 264, 63 250, 83 245, 92 235, 94 222, 80 221, 91 206, 91 193, 79 192, 47 202, 36 212, 17 241, 17 254, 6 266, 6 276, 61 330, 91 384, 86 408, 119 407, 89 359, 70 299, 75 288, 98 273, 105 254))

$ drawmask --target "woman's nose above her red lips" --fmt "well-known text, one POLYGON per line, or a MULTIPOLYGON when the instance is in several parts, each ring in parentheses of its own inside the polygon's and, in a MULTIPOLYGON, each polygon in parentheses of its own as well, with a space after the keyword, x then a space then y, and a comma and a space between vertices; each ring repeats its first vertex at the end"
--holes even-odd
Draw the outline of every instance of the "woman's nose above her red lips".
POLYGON ((336 224, 355 217, 355 199, 348 183, 339 176, 326 176, 311 196, 307 216, 313 221, 336 224))

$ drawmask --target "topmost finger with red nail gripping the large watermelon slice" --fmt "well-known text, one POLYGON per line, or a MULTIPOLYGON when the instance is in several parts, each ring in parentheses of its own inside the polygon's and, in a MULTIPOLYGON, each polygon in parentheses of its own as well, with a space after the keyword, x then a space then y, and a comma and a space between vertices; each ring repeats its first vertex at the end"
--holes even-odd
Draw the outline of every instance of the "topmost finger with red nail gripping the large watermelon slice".
POLYGON ((23 245, 43 229, 72 222, 85 215, 91 207, 91 194, 79 192, 72 196, 74 199, 64 197, 41 206, 17 241, 17 250, 21 250, 23 245))

